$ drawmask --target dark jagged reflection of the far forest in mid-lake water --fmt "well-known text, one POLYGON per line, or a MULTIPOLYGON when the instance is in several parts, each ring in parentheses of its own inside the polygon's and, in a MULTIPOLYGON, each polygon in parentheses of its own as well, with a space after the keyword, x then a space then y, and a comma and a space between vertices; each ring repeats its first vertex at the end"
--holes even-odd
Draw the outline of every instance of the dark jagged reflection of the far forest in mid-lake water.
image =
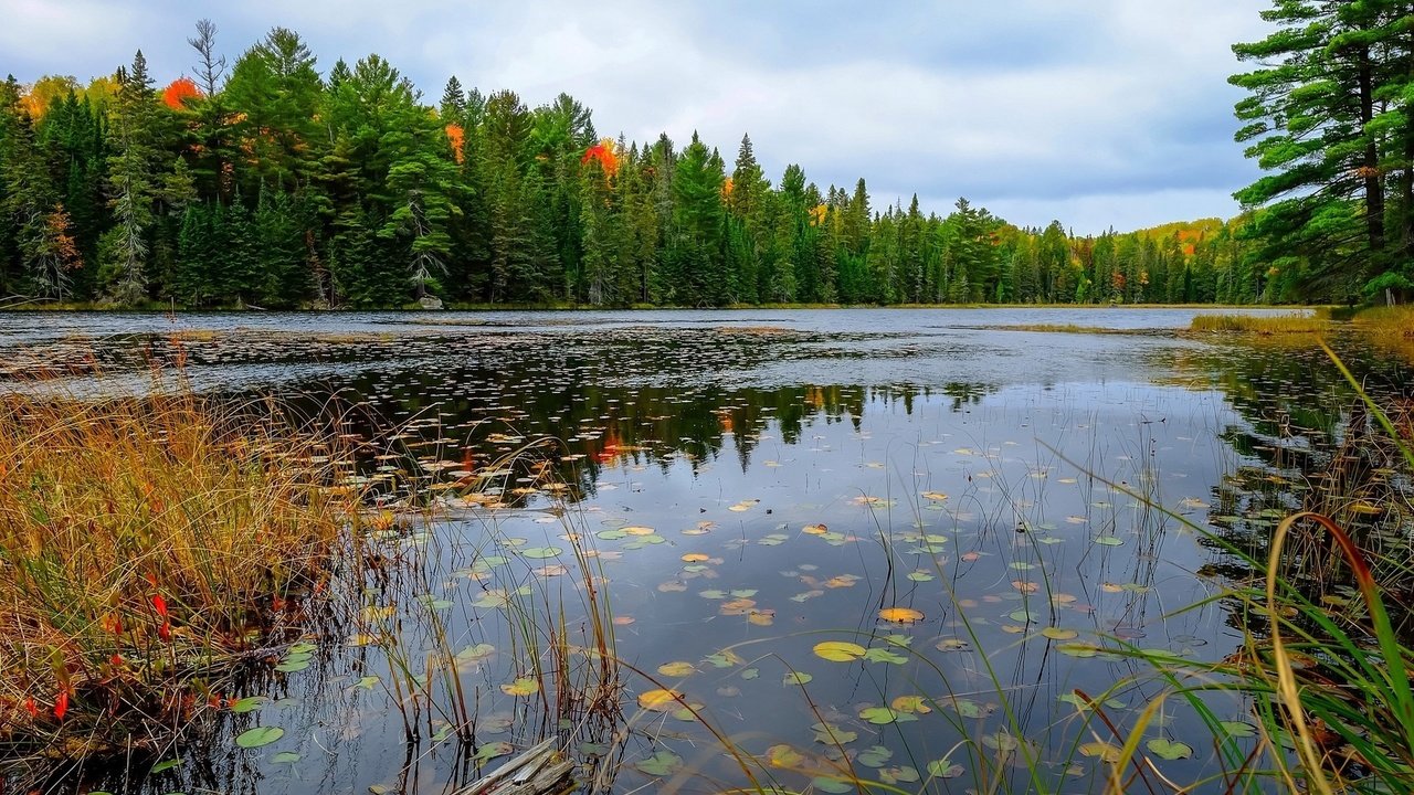
MULTIPOLYGON (((574 372, 577 368, 568 368, 574 372)), ((717 386, 605 386, 601 382, 553 376, 543 368, 502 366, 441 372, 362 373, 338 389, 308 390, 290 398, 310 413, 341 416, 341 431, 366 440, 361 471, 387 484, 421 471, 484 472, 496 464, 506 475, 505 501, 523 502, 533 482, 560 482, 570 502, 594 494, 605 470, 619 465, 656 467, 665 475, 679 463, 693 474, 704 463, 735 453, 742 471, 762 441, 779 436, 793 446, 814 423, 848 423, 860 430, 865 406, 902 407, 912 414, 918 400, 950 399, 950 410, 977 405, 995 386, 950 382, 916 385, 800 385, 775 389, 717 386), (392 430, 390 430, 392 429, 392 430), (400 472, 389 472, 397 453, 400 472), (382 471, 380 471, 382 468, 382 471)), ((465 478, 462 478, 465 480, 465 478)), ((474 485, 467 481, 464 485, 474 485)))

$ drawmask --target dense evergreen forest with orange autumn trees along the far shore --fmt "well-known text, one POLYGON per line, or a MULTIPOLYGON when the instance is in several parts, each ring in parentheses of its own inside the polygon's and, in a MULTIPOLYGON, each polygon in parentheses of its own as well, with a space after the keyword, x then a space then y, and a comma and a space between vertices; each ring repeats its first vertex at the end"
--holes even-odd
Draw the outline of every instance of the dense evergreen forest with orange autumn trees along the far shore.
POLYGON ((457 78, 431 106, 369 55, 321 75, 274 28, 229 65, 215 27, 163 89, 141 52, 81 86, 0 86, 0 294, 115 306, 1102 303, 1295 298, 1236 225, 1073 238, 959 199, 871 205, 864 180, 778 182, 601 139, 567 95, 457 78))

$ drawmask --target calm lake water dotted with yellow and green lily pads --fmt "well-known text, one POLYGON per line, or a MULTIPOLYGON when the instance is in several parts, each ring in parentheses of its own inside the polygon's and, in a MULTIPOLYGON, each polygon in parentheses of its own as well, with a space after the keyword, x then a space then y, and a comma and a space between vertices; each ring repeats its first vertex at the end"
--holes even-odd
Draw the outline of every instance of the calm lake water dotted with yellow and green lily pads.
MULTIPOLYGON (((1176 334, 1193 314, 0 315, 11 383, 130 390, 161 362, 204 392, 334 406, 383 453, 361 482, 389 509, 417 482, 443 512, 376 533, 409 567, 348 583, 308 659, 229 695, 252 709, 88 775, 450 792, 557 736, 614 792, 855 791, 841 770, 905 792, 1097 789, 1093 743, 1117 740, 1085 697, 1124 731, 1165 673, 1239 648, 1240 618, 1206 600, 1243 571, 1208 536, 1299 505, 1271 485, 1298 480, 1278 453, 1319 463, 1350 405, 1311 345, 1176 334), (1008 328, 1035 324, 1113 332, 1008 328), (597 669, 587 581, 621 714, 556 709, 557 638, 566 690, 597 669), (284 734, 235 745, 259 726, 284 734)), ((1210 707, 1250 731, 1241 703, 1210 707)), ((1219 771, 1179 699, 1147 736, 1191 745, 1155 757, 1172 781, 1219 771)))

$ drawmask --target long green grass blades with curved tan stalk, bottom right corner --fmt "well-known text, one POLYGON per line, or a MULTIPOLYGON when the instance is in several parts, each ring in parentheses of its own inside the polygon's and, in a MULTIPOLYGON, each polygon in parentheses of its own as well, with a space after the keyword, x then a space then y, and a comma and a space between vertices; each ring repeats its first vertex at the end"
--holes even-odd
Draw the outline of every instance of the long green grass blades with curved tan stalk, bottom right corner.
MULTIPOLYGON (((1407 417, 1391 419, 1335 352, 1322 347, 1369 412, 1367 419, 1356 412, 1352 422, 1369 422, 1386 433, 1394 458, 1408 467, 1406 471, 1414 471, 1414 434, 1407 417)), ((1340 494, 1350 482, 1332 478, 1319 485, 1318 491, 1326 491, 1319 501, 1343 508, 1370 505, 1367 495, 1340 494)), ((1397 499, 1389 494, 1372 508, 1390 511, 1397 499)), ((1178 611, 1226 601, 1241 618, 1241 648, 1220 663, 1200 675, 1179 676, 1174 673, 1174 661, 1133 652, 1168 679, 1165 697, 1186 700, 1212 731, 1225 791, 1273 787, 1324 795, 1414 791, 1414 649, 1408 628, 1397 622, 1408 615, 1414 593, 1408 513, 1404 513, 1403 545, 1380 549, 1376 539, 1352 532, 1331 516, 1295 512, 1271 532, 1266 555, 1237 546, 1184 516, 1171 516, 1260 574, 1178 611), (1292 569, 1294 545, 1314 545, 1298 557, 1325 567, 1324 580, 1292 569), (1208 695, 1236 696, 1250 704, 1258 737, 1247 753, 1205 706, 1208 695)), ((1131 761, 1138 731, 1141 727, 1126 741, 1116 770, 1131 761)), ((1113 784, 1110 789, 1123 791, 1113 784)))

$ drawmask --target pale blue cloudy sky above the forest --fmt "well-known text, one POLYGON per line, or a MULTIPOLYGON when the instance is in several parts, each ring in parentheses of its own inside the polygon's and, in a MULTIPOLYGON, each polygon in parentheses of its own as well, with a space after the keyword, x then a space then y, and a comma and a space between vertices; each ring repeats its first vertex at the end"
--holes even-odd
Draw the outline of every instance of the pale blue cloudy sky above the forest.
POLYGON ((0 74, 86 82, 139 48, 160 85, 191 74, 198 18, 230 62, 274 25, 321 72, 387 58, 441 96, 450 75, 530 106, 568 92, 602 136, 735 158, 779 181, 863 177, 875 209, 967 197, 1076 233, 1230 218, 1257 177, 1233 141, 1232 44, 1267 0, 0 0, 0 74))

